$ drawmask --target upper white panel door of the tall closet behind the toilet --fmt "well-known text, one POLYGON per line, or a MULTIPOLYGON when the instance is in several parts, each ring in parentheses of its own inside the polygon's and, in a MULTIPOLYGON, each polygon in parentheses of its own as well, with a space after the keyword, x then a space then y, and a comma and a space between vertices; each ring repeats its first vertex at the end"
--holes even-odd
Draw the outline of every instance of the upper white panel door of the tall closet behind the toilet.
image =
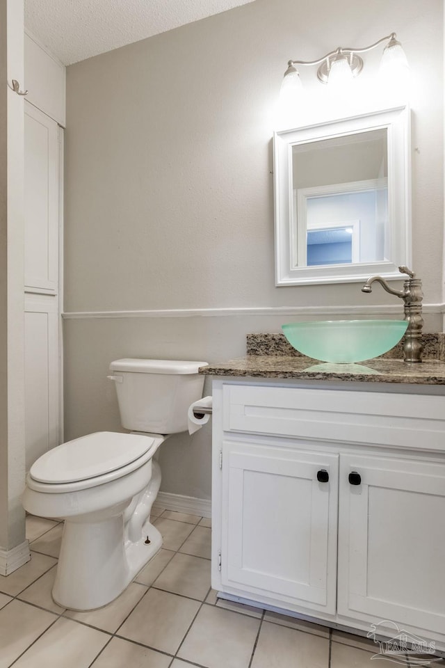
POLYGON ((25 290, 57 294, 58 125, 25 102, 25 290))

